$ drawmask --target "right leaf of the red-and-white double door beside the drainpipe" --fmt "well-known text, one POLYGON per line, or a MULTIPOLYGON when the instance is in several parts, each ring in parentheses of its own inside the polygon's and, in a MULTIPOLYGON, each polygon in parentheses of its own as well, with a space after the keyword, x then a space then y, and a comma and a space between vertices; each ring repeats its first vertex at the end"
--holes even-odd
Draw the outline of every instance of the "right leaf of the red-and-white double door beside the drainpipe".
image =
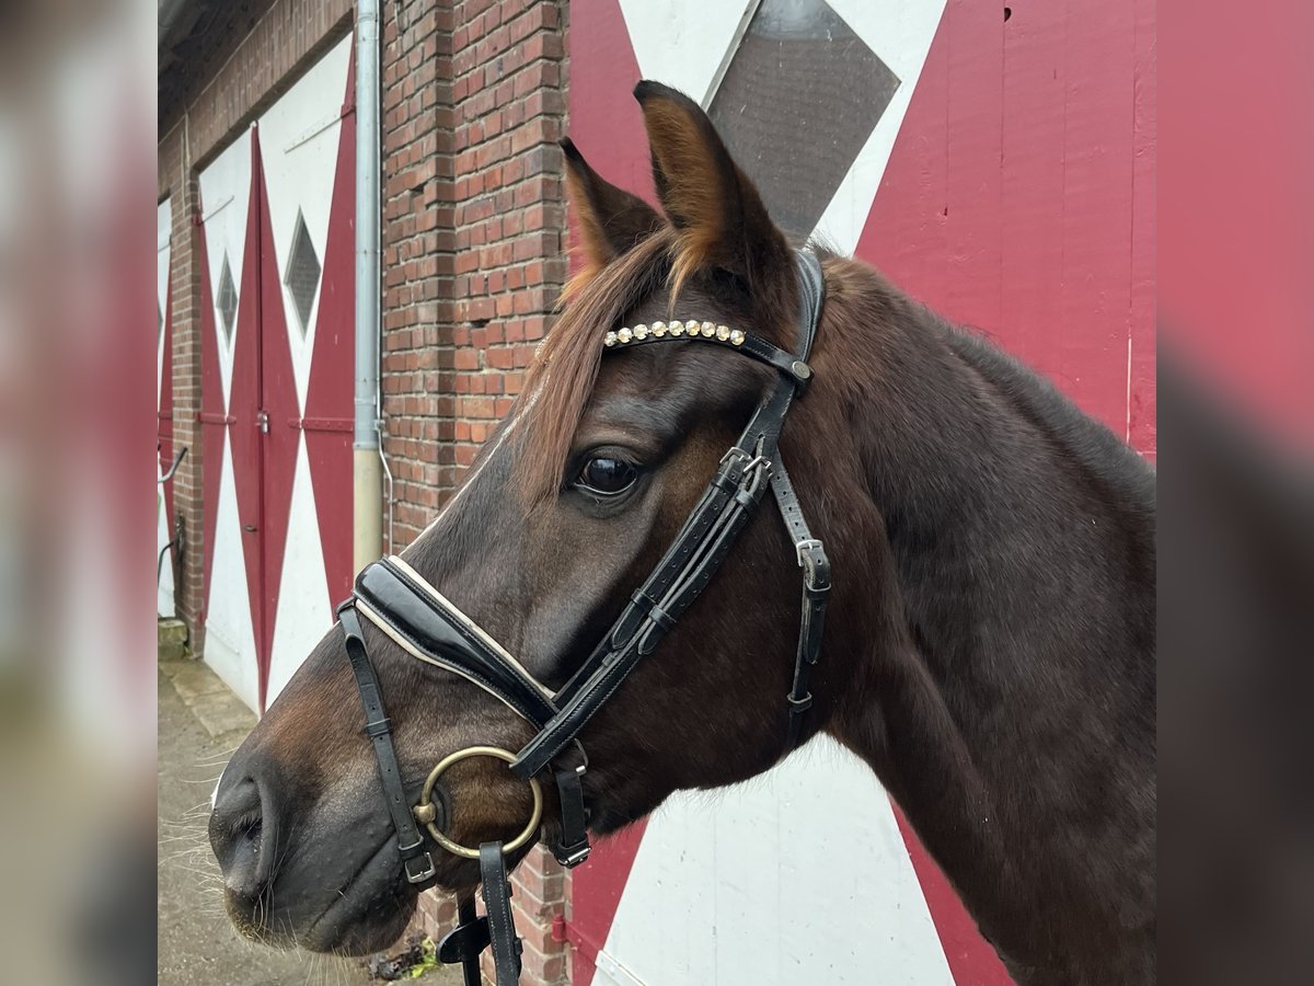
POLYGON ((265 701, 351 590, 353 89, 347 35, 260 117, 265 701))

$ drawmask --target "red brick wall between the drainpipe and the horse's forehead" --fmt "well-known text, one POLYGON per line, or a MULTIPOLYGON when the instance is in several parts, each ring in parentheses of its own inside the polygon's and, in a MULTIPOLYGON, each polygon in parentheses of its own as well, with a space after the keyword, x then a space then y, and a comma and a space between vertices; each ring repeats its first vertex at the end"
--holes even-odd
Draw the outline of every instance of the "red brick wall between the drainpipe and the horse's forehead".
MULTIPOLYGON (((565 281, 565 3, 388 4, 384 417, 393 536, 410 543, 520 390, 565 281)), ((515 877, 524 982, 566 978, 561 868, 515 877)), ((449 901, 426 895, 438 935, 449 901)), ((487 969, 490 973, 490 968, 487 969)))

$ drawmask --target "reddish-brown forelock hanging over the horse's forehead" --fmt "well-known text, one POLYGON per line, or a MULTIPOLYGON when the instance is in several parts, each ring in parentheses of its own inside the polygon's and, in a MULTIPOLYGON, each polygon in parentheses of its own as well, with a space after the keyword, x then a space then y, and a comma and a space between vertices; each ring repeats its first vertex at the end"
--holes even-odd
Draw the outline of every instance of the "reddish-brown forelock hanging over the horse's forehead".
POLYGON ((561 486, 561 464, 593 394, 602 337, 665 283, 675 234, 669 226, 600 268, 586 268, 562 294, 564 309, 530 364, 516 417, 515 471, 530 505, 561 486))

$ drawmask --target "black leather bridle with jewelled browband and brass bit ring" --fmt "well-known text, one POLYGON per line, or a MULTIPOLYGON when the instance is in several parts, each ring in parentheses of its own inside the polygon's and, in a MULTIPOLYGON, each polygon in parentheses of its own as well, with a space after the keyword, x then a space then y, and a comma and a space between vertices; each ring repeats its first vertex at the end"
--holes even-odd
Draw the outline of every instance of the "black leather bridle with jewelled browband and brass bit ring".
POLYGON ((812 705, 808 680, 821 651, 823 621, 830 593, 830 565, 825 550, 808 530, 794 485, 779 461, 779 438, 786 414, 812 379, 807 360, 825 294, 821 264, 812 252, 798 252, 798 270, 802 296, 798 354, 750 333, 711 322, 654 322, 652 326, 622 327, 604 335, 604 350, 668 339, 698 339, 765 363, 778 372, 778 377, 738 440, 723 456, 666 553, 562 688, 552 690, 541 684, 399 557, 368 565, 356 578, 355 594, 338 607, 347 655, 365 710, 364 731, 374 745, 406 880, 426 885, 435 874, 422 826, 440 848, 480 860, 487 916, 476 915, 472 897, 460 901, 460 923, 439 947, 439 957, 444 962, 464 965, 466 983, 480 982, 478 956, 489 945, 493 947, 498 986, 519 981, 520 941, 511 920, 506 856, 537 835, 543 811, 539 776, 551 768, 560 801, 561 835, 549 849, 564 866, 576 866, 589 856, 589 812, 582 786, 589 761, 578 739, 579 731, 657 648, 707 586, 767 488, 775 497, 803 569, 799 644, 794 681, 786 695, 788 718, 782 756, 798 745, 803 715, 812 705), (452 753, 430 772, 419 803, 413 807, 397 763, 378 677, 365 649, 361 617, 411 656, 460 674, 494 695, 528 722, 536 730, 535 736, 518 753, 498 747, 469 747, 452 753), (516 777, 528 782, 533 795, 533 810, 520 835, 505 844, 484 843, 478 849, 460 845, 445 835, 445 811, 432 797, 448 768, 474 756, 505 760, 516 777))

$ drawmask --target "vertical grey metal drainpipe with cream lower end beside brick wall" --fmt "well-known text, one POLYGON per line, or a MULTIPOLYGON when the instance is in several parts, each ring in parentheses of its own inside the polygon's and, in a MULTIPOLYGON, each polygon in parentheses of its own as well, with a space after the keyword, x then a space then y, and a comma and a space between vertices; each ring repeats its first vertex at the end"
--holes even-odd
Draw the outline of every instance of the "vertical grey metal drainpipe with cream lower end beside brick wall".
POLYGON ((352 440, 355 523, 352 563, 359 572, 384 552, 380 448, 380 71, 378 0, 356 4, 356 411, 352 440))

